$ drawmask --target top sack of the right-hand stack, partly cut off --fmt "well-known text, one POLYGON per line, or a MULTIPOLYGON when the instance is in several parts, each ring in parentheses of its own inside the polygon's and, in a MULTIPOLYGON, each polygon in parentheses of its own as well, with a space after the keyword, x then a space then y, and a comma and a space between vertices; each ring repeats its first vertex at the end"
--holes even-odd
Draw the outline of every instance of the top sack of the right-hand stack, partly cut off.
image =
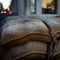
POLYGON ((60 17, 44 17, 43 20, 48 25, 53 38, 60 38, 60 17))

